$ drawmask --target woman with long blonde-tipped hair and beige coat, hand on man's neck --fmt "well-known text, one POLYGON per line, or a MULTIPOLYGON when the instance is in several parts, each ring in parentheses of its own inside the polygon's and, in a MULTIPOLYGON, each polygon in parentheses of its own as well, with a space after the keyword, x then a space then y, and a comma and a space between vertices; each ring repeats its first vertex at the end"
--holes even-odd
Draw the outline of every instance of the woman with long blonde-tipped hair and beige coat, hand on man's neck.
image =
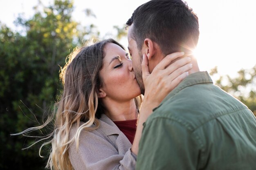
MULTIPOLYGON (((175 88, 191 68, 189 57, 166 67, 182 55, 176 53, 165 57, 158 64, 158 68, 162 69, 155 69, 151 74, 148 73, 144 57, 142 68, 145 88, 155 93, 145 93, 141 106, 141 92, 132 62, 118 42, 103 40, 74 51, 61 70, 63 95, 53 114, 54 131, 45 138, 52 137, 45 143, 52 144, 47 168, 135 169, 143 122, 162 101, 162 96, 175 88), (158 93, 158 89, 162 92, 158 93)), ((50 121, 52 119, 38 129, 50 121)))

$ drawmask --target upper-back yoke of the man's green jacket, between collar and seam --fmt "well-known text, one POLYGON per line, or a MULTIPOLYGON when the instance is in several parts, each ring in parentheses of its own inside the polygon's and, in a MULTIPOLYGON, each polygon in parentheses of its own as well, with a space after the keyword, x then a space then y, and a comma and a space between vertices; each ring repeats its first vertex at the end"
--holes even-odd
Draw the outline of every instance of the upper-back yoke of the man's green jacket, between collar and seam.
POLYGON ((248 109, 240 101, 213 84, 195 84, 166 99, 153 110, 148 121, 166 119, 190 130, 222 115, 248 109))

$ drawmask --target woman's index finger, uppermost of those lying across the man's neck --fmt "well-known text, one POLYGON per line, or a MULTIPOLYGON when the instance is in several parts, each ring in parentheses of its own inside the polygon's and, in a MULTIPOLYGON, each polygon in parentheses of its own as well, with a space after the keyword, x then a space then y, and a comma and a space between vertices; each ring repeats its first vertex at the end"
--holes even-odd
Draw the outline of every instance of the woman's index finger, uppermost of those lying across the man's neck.
POLYGON ((164 57, 163 60, 161 60, 161 62, 157 64, 155 68, 157 68, 158 70, 164 70, 166 66, 171 64, 171 62, 173 62, 179 57, 182 57, 183 55, 184 55, 184 52, 176 52, 176 53, 168 54, 166 55, 166 57, 164 57))

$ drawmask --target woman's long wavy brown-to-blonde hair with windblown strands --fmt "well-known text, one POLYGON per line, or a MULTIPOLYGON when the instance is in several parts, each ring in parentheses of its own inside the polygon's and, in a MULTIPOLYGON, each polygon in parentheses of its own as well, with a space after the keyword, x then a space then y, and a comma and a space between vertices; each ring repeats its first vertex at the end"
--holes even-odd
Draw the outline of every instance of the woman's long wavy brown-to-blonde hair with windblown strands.
MULTIPOLYGON (((56 109, 42 126, 28 128, 13 135, 25 135, 28 132, 44 128, 49 123, 54 124, 54 130, 39 141, 43 143, 39 150, 47 144, 52 144, 46 168, 54 170, 72 170, 68 157, 68 146, 76 142, 79 146, 79 135, 82 130, 90 131, 99 128, 99 118, 104 112, 104 106, 97 97, 97 91, 102 85, 99 71, 103 67, 104 46, 114 43, 124 49, 121 44, 113 39, 97 42, 90 46, 76 48, 67 58, 66 65, 61 68, 60 78, 63 83, 63 94, 56 109), (83 121, 83 124, 80 124, 83 121), (95 126, 92 128, 92 124, 95 126), (72 125, 76 126, 76 134, 69 138, 72 125)), ((136 97, 135 102, 139 109, 142 97, 136 97)), ((34 144, 36 144, 36 141, 34 144)), ((31 146, 33 146, 32 144, 31 146)), ((29 147, 31 147, 29 146, 29 147)), ((41 156, 41 155, 40 155, 41 156)))

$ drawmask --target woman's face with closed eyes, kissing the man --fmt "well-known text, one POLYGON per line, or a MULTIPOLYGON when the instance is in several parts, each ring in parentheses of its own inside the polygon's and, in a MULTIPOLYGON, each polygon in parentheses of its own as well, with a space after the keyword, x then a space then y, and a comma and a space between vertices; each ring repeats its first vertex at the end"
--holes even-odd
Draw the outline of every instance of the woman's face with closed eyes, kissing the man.
POLYGON ((99 97, 121 102, 139 96, 141 92, 128 53, 114 43, 106 44, 104 52, 106 55, 99 74, 103 80, 100 93, 103 91, 106 95, 99 97))

